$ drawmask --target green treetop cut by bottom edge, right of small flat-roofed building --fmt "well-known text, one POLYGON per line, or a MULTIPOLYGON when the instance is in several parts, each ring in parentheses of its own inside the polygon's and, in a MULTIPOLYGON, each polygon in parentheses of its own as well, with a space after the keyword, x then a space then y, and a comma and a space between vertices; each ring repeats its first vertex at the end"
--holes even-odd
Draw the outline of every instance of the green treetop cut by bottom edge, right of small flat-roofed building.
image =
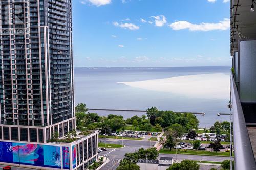
POLYGON ((199 170, 200 165, 195 161, 183 160, 181 163, 173 163, 167 170, 199 170))

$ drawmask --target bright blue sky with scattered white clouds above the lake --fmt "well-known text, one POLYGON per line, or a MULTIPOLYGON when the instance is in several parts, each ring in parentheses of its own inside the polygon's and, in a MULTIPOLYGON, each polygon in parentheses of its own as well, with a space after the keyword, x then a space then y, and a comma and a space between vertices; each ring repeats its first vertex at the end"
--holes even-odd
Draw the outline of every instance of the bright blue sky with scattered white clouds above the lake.
POLYGON ((230 65, 230 1, 73 1, 75 67, 230 65))

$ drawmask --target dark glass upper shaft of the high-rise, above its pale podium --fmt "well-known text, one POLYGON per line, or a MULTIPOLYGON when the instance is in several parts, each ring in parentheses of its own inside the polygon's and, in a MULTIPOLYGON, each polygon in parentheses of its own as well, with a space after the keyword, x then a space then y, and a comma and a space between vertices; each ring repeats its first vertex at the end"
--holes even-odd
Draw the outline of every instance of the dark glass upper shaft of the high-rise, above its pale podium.
POLYGON ((71 10, 71 0, 1 1, 2 124, 73 127, 71 10))

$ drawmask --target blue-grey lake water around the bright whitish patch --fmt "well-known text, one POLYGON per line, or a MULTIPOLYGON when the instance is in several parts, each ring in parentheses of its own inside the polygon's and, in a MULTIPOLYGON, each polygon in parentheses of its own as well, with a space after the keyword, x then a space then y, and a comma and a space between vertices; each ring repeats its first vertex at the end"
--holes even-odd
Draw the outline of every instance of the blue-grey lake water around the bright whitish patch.
MULTIPOLYGON (((228 120, 229 116, 218 117, 217 113, 228 113, 229 99, 193 99, 172 93, 143 90, 117 82, 142 81, 175 76, 230 73, 229 66, 218 67, 172 67, 172 68, 75 68, 75 103, 86 103, 88 108, 146 110, 155 106, 159 110, 205 112, 198 115, 200 127, 210 127, 216 120, 228 120)), ((99 115, 120 114, 124 118, 138 112, 94 111, 99 115)))

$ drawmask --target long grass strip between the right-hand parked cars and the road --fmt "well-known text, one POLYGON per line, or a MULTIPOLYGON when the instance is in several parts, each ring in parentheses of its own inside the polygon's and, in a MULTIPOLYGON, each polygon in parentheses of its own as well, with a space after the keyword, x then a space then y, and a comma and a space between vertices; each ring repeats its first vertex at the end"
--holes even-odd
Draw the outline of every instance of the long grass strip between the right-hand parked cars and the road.
MULTIPOLYGON (((159 153, 162 154, 176 154, 176 150, 172 149, 160 149, 159 153)), ((177 154, 187 154, 187 155, 208 155, 208 156, 230 156, 229 152, 211 152, 211 151, 195 151, 195 150, 180 150, 177 154)))

